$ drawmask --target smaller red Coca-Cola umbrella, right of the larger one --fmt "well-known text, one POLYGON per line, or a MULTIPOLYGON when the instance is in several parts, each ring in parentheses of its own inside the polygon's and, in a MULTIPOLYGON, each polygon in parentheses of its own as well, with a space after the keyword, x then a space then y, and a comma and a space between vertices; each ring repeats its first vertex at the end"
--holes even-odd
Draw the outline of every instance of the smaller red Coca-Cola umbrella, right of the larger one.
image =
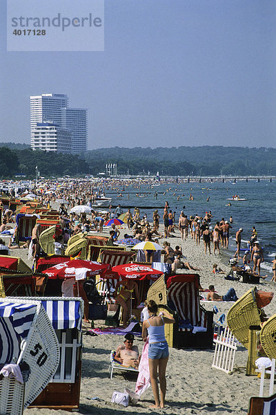
POLYGON ((112 267, 112 275, 106 275, 108 278, 117 279, 157 279, 163 275, 162 271, 155 270, 151 266, 141 264, 123 264, 112 267))

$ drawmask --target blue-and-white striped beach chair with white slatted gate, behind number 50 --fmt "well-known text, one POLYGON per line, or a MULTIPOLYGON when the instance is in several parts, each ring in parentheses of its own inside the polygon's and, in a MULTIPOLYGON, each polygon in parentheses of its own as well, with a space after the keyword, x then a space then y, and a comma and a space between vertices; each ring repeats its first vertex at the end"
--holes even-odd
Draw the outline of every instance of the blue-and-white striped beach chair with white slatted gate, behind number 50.
POLYGON ((45 309, 59 340, 60 361, 47 387, 31 407, 76 411, 81 387, 83 299, 35 297, 45 309))

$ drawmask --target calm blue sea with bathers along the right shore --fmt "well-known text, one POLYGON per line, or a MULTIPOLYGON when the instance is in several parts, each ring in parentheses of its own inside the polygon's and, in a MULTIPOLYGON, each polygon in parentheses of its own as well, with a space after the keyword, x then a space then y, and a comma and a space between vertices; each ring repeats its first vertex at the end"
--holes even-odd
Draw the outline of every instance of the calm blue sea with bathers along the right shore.
MULTIPOLYGON (((122 206, 138 206, 141 210, 141 216, 145 213, 152 221, 152 207, 157 207, 159 214, 163 216, 165 202, 168 201, 172 212, 176 212, 175 218, 178 222, 179 214, 182 209, 188 216, 199 214, 204 216, 206 211, 211 210, 213 220, 215 221, 229 219, 233 216, 233 229, 230 230, 229 256, 235 252, 235 232, 243 228, 242 248, 246 248, 246 242, 250 237, 250 230, 253 225, 257 229, 258 240, 264 248, 264 263, 262 263, 262 274, 271 275, 271 261, 276 255, 276 181, 261 179, 257 181, 237 181, 237 183, 167 183, 158 187, 149 187, 141 185, 140 189, 130 187, 121 187, 123 197, 118 198, 114 192, 106 191, 106 196, 112 196, 112 205, 121 203, 122 206), (145 197, 137 197, 139 195, 145 197), (155 192, 158 192, 157 199, 155 192), (175 194, 175 195, 174 195, 175 194), (193 194, 193 201, 189 200, 190 194, 193 194), (230 201, 228 198, 238 194, 240 198, 246 201, 230 201), (129 196, 128 196, 129 195, 129 196), (180 196, 179 201, 177 196, 180 196), (128 199, 129 197, 129 199, 128 199), (210 198, 207 201, 207 198, 210 198), (184 208, 185 206, 185 208, 184 208), (147 208, 151 207, 151 208, 147 208)), ((133 212, 133 209, 131 209, 133 212)), ((126 209, 124 209, 126 211, 126 209)))

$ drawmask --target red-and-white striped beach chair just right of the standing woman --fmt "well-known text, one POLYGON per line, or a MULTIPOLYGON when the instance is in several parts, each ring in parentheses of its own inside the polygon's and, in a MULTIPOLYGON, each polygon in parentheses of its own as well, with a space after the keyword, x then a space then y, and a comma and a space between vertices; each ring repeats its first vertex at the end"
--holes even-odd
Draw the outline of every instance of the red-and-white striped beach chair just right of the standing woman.
POLYGON ((178 330, 175 331, 177 335, 173 336, 173 347, 212 349, 213 311, 206 311, 200 306, 199 275, 174 275, 168 278, 167 287, 168 299, 180 320, 178 330))

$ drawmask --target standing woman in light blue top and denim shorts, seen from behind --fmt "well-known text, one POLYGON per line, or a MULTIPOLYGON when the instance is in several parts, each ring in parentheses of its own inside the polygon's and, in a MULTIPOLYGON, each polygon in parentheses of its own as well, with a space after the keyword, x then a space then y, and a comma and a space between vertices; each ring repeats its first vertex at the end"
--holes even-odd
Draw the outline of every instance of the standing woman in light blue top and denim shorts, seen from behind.
POLYGON ((148 302, 148 313, 150 318, 143 322, 142 337, 144 342, 147 339, 148 331, 148 366, 150 368, 150 382, 155 397, 153 408, 164 408, 166 396, 166 367, 168 363, 168 343, 165 338, 164 324, 173 324, 175 319, 164 312, 157 316, 157 304, 150 299, 148 302), (159 373, 160 398, 157 384, 159 373))

